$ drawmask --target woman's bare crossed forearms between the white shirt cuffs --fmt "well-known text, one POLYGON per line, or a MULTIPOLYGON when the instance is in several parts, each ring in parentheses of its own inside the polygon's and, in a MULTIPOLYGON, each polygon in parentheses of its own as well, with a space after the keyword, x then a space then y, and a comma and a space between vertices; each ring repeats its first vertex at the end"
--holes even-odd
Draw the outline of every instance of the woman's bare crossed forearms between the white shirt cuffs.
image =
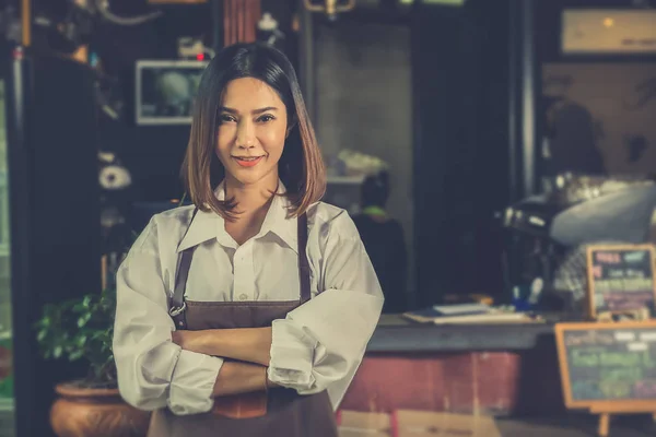
POLYGON ((273 387, 267 377, 271 361, 271 328, 208 329, 172 332, 181 349, 226 359, 212 394, 215 397, 273 387))

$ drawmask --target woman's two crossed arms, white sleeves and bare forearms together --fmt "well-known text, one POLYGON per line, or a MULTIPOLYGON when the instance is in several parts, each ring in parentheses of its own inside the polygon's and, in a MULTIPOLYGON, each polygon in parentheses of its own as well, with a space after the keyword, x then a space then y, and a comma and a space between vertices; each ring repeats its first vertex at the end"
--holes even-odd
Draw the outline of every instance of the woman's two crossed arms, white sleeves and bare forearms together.
POLYGON ((162 260, 160 241, 175 233, 159 233, 160 222, 164 217, 151 221, 117 272, 113 346, 124 399, 142 410, 203 413, 212 408, 210 397, 272 386, 265 382, 267 366, 274 381, 300 394, 332 387, 333 397, 343 395, 383 305, 373 267, 347 215, 330 222, 336 231, 319 232, 329 235, 324 249, 311 250, 323 260, 315 271, 319 293, 273 330, 175 331, 173 342, 163 271, 174 271, 177 258, 169 253, 162 260))

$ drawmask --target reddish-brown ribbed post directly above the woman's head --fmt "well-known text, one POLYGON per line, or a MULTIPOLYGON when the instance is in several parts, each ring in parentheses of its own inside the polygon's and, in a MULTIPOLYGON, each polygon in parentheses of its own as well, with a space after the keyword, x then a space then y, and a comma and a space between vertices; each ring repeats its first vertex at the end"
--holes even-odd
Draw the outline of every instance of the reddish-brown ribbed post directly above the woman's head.
POLYGON ((260 17, 260 0, 224 0, 224 45, 230 46, 236 43, 255 43, 257 23, 260 17))

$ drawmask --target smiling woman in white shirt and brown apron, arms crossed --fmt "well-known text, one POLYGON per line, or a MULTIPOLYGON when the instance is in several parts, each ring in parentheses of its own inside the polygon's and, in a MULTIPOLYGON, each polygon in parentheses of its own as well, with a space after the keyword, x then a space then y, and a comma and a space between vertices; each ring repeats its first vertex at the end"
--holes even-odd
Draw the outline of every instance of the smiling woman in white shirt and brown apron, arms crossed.
POLYGON ((289 60, 222 50, 202 75, 183 175, 117 273, 114 354, 151 436, 335 437, 383 294, 325 169, 289 60))

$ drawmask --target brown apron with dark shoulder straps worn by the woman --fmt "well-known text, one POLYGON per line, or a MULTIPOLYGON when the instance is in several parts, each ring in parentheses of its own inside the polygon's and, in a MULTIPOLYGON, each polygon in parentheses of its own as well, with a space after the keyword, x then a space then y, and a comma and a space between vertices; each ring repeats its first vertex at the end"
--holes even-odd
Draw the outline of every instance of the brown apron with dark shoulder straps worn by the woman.
MULTIPOLYGON (((196 212, 194 213, 194 216, 196 212)), ((194 221, 191 217, 191 222, 194 221)), ((270 327, 273 320, 311 298, 307 216, 298 217, 298 274, 301 297, 289 302, 190 302, 185 288, 195 247, 183 251, 176 273, 171 315, 177 329, 233 329, 270 327)), ((191 223, 189 223, 190 226, 191 223)), ((337 437, 328 392, 300 395, 293 389, 216 398, 209 413, 175 415, 168 409, 153 412, 149 437, 337 437), (220 414, 230 410, 231 417, 220 414), (243 413, 239 414, 239 411, 243 413), (266 413, 265 413, 266 411, 266 413), (255 413, 254 413, 255 412, 255 413), (261 412, 261 414, 258 414, 261 412), (238 416, 239 418, 233 418, 238 416), (255 415, 255 417, 254 417, 255 415)))

